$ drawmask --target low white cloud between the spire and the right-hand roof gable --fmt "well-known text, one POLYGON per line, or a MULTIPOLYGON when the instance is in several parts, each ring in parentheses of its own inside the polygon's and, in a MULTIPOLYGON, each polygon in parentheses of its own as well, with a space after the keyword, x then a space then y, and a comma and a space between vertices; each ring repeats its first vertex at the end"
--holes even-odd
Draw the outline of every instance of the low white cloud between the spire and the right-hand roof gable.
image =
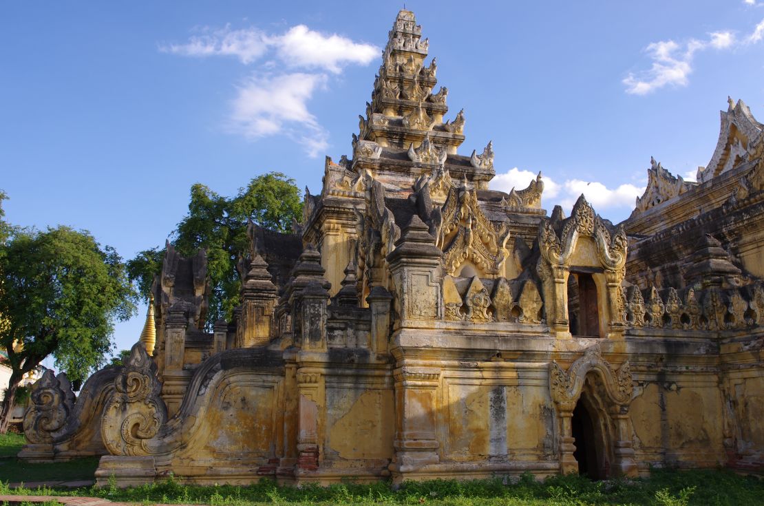
MULTIPOLYGON (((534 179, 536 179, 535 173, 514 167, 503 174, 497 174, 491 180, 490 187, 493 190, 509 193, 513 187, 516 190, 523 190, 534 179)), ((645 193, 645 187, 636 187, 633 184, 622 184, 610 189, 597 181, 571 179, 565 180, 564 183, 557 183, 551 177, 545 176, 542 176, 542 180, 544 181, 542 194, 544 207, 551 209, 555 204, 559 204, 565 212, 570 212, 581 193, 597 212, 601 209, 633 209, 636 197, 645 193)))

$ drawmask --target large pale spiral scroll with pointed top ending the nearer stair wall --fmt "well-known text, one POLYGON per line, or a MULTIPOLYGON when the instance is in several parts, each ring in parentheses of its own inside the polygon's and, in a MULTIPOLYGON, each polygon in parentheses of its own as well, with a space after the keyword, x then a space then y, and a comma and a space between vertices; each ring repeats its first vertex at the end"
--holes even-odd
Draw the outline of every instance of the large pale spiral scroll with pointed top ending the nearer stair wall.
POLYGON ((157 364, 141 343, 130 350, 125 368, 115 379, 115 392, 104 411, 101 434, 112 455, 149 455, 147 440, 167 423, 167 407, 160 397, 157 364))

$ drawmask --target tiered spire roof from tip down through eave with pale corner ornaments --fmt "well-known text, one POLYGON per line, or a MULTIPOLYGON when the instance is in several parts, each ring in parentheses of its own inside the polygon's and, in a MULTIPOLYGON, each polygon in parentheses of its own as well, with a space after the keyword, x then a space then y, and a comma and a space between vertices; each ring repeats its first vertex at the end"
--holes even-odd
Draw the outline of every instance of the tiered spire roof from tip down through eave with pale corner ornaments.
POLYGON ((413 12, 400 11, 374 79, 371 102, 365 117, 360 117, 359 134, 354 135, 354 168, 408 174, 399 176, 399 182, 411 187, 411 177, 416 180, 432 167, 445 167, 451 177, 466 178, 471 186, 486 189, 494 177, 493 148, 489 143, 481 154, 456 154, 465 141, 465 113, 461 110, 444 120, 448 89, 436 90, 438 66, 435 58, 426 64, 428 48, 429 40, 422 39, 413 12))

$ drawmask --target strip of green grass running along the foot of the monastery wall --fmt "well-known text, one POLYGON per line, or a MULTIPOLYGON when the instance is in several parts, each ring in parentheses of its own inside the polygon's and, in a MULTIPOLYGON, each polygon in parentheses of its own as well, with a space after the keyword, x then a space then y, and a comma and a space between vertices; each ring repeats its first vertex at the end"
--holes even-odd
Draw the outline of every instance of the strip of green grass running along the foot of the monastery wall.
POLYGON ((520 479, 497 477, 490 480, 455 482, 406 482, 393 489, 388 483, 357 485, 345 483, 328 488, 303 486, 279 487, 270 480, 257 485, 199 487, 181 485, 170 479, 138 488, 120 490, 80 488, 31 491, 0 488, 0 494, 89 495, 112 501, 141 503, 212 504, 213 506, 250 506, 254 504, 401 504, 432 506, 537 506, 598 504, 710 504, 738 506, 764 504, 764 480, 744 477, 726 470, 666 471, 656 470, 649 478, 591 482, 579 476, 555 476, 536 482, 531 475, 520 479))

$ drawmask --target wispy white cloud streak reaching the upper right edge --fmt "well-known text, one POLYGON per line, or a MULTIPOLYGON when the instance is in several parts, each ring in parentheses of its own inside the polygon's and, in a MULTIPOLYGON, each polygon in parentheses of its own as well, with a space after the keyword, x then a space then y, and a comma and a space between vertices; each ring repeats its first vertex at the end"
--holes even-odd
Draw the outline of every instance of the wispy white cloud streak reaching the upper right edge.
MULTIPOLYGON (((755 5, 755 2, 746 3, 755 5)), ((764 20, 756 25, 753 33, 739 40, 732 31, 714 31, 704 41, 690 39, 687 42, 659 41, 648 44, 646 53, 652 60, 649 70, 629 73, 622 83, 626 93, 646 95, 664 86, 687 86, 688 76, 692 73, 692 60, 698 51, 712 47, 717 50, 729 50, 740 44, 756 44, 764 38, 764 20)))

